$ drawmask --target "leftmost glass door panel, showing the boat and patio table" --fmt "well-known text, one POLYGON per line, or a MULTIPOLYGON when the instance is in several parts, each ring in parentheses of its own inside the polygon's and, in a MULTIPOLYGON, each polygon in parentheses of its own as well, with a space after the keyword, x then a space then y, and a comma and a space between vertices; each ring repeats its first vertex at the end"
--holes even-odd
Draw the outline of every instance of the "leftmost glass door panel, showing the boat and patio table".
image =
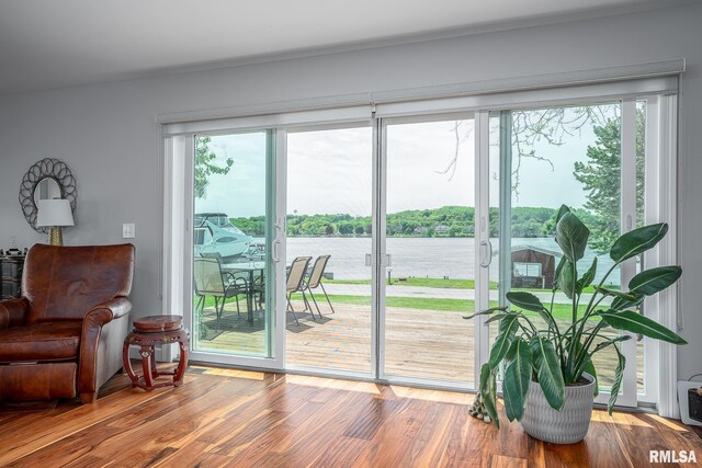
POLYGON ((271 357, 273 133, 195 136, 194 352, 271 357))

